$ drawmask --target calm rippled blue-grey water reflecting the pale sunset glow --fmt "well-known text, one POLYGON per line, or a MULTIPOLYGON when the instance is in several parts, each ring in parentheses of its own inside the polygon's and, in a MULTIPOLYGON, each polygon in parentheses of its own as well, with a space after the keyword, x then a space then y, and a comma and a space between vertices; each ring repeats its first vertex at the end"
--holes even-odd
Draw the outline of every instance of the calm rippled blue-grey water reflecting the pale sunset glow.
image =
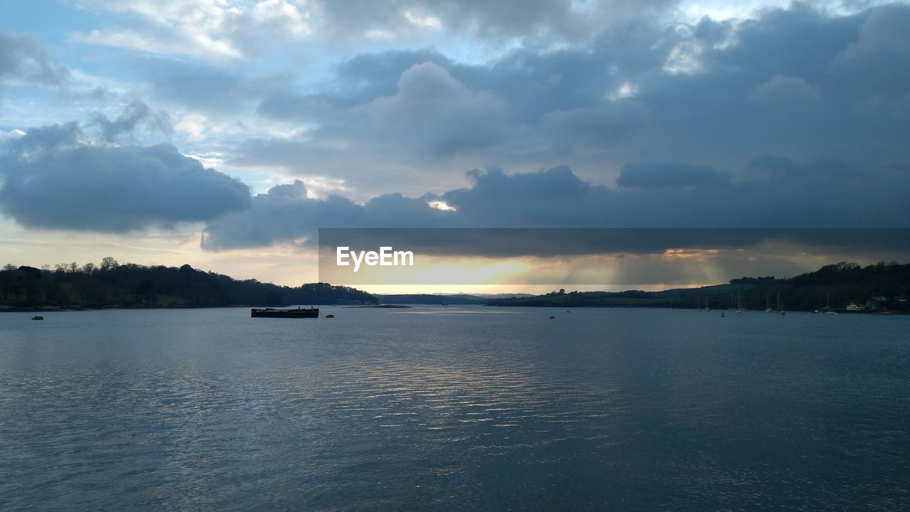
POLYGON ((323 312, 0 315, 0 509, 910 509, 910 317, 323 312))

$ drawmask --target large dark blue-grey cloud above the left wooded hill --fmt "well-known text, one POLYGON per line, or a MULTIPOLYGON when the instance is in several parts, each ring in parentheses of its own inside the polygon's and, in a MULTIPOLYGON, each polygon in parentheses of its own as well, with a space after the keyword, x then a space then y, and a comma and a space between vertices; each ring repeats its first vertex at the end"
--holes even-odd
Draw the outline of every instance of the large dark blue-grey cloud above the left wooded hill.
POLYGON ((209 220, 249 205, 249 189, 167 144, 96 146, 76 123, 0 146, 0 210, 24 226, 126 232, 209 220))

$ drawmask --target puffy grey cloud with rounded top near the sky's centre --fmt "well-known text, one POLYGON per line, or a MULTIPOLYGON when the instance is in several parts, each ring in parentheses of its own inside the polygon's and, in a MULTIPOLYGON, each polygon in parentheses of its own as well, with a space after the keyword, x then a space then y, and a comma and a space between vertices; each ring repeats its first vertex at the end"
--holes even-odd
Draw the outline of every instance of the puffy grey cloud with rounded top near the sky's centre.
POLYGON ((373 194, 422 192, 453 162, 492 150, 510 135, 498 99, 471 90, 431 62, 401 73, 391 95, 347 108, 332 103, 296 97, 269 106, 319 124, 290 137, 249 138, 230 163, 283 169, 308 179, 343 179, 373 194), (373 171, 364 172, 368 167, 373 171), (402 182, 410 187, 390 188, 402 182))

